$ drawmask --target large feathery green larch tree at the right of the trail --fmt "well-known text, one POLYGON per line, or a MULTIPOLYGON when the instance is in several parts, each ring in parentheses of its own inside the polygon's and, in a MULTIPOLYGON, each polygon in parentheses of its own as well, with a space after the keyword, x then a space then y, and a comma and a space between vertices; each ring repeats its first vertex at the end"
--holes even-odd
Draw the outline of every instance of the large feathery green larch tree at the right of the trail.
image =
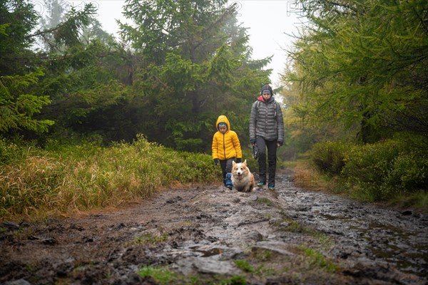
POLYGON ((307 114, 360 125, 362 142, 428 134, 426 1, 300 0, 309 19, 289 56, 307 114))

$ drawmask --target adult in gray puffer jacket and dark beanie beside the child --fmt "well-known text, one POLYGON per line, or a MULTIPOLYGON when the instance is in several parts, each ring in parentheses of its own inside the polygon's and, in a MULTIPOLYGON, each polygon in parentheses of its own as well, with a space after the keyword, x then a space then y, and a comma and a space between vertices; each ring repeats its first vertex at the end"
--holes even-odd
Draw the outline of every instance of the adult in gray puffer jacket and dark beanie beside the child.
POLYGON ((259 182, 266 184, 266 149, 269 180, 267 187, 275 190, 276 152, 284 143, 284 120, 280 104, 272 97, 272 88, 266 84, 253 103, 250 115, 250 142, 258 148, 259 182))

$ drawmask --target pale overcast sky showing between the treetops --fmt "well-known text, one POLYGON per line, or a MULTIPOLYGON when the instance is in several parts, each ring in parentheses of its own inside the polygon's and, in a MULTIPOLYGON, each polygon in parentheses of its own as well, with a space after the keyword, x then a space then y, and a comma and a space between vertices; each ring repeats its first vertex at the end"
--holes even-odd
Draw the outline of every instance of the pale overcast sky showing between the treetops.
MULTIPOLYGON (((36 9, 44 10, 43 0, 32 0, 36 9)), ((70 5, 83 7, 84 3, 92 2, 98 7, 98 20, 108 33, 117 33, 116 19, 126 21, 121 14, 125 0, 80 0, 66 1, 70 5)), ((294 1, 286 0, 238 0, 229 1, 229 4, 238 4, 238 21, 244 27, 249 28, 249 45, 253 47, 253 59, 261 59, 272 56, 272 63, 267 68, 272 68, 270 80, 274 88, 280 81, 278 73, 285 68, 286 56, 283 48, 292 43, 292 38, 286 33, 297 33, 297 28, 302 26, 299 17, 300 9, 294 1)))

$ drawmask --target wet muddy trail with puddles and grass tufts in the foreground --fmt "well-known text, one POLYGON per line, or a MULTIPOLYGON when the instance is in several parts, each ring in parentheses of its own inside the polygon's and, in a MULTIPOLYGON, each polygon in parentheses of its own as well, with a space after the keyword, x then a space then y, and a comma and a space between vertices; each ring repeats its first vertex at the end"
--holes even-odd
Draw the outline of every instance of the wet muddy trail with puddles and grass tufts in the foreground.
POLYGON ((428 284, 428 217, 295 187, 170 189, 0 224, 0 284, 428 284))

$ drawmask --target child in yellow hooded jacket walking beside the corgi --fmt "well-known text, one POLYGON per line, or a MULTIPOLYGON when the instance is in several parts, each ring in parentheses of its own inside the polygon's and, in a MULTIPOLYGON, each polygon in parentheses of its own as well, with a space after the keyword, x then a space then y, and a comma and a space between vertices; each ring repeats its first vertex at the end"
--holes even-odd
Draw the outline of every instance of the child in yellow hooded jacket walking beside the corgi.
POLYGON ((230 130, 230 123, 225 115, 220 115, 215 123, 217 132, 213 136, 213 160, 217 166, 220 162, 220 167, 223 174, 223 184, 230 190, 232 184, 232 161, 241 162, 243 152, 240 148, 238 135, 230 130))

